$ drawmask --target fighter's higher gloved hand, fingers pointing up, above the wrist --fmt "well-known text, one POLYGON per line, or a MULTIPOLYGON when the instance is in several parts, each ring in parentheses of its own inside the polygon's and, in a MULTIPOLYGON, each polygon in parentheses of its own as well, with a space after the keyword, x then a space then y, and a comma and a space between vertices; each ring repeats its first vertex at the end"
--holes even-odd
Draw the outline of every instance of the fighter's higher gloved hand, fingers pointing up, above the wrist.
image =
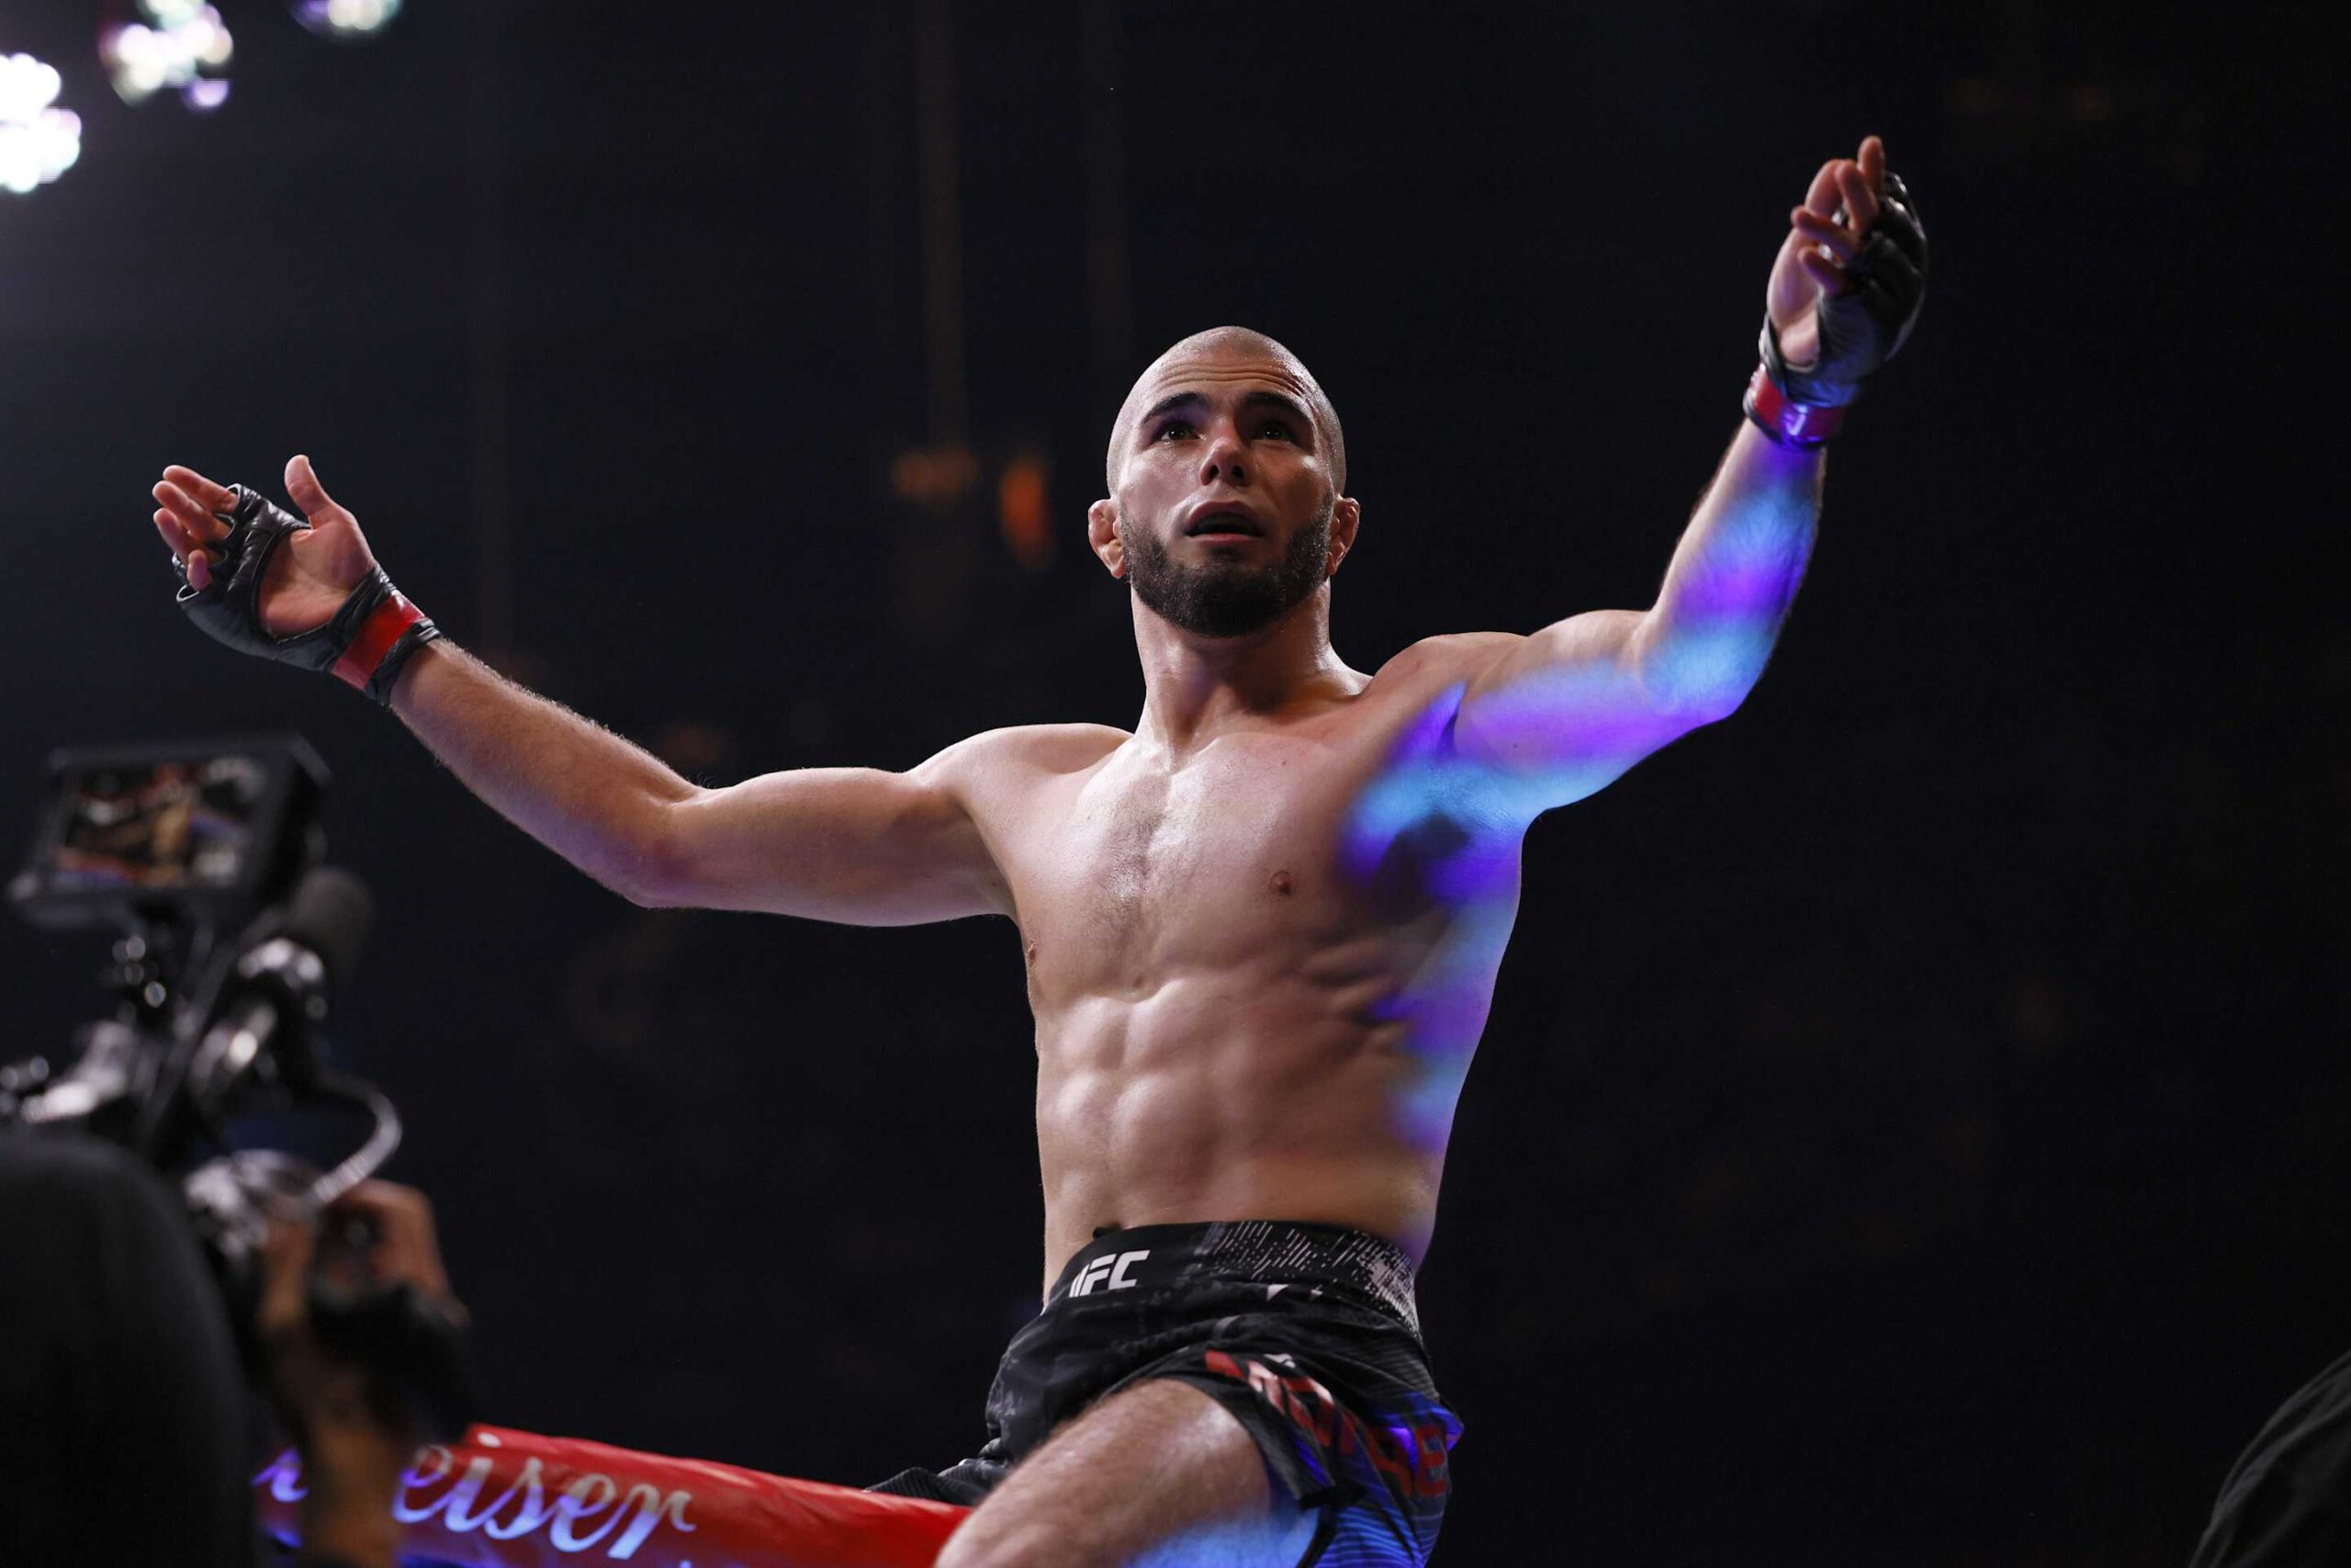
POLYGON ((1831 381, 1857 383, 1902 346, 1923 287, 1918 214, 1886 172, 1886 143, 1864 136, 1857 158, 1820 165, 1803 205, 1789 214, 1789 235, 1763 289, 1780 357, 1791 369, 1820 367, 1831 381), (1822 364, 1822 350, 1853 367, 1822 364))

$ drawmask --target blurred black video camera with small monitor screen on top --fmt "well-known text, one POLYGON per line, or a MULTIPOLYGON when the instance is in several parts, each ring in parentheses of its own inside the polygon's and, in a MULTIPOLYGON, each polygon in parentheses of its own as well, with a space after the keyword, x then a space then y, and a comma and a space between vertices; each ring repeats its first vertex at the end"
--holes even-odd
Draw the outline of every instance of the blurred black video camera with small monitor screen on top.
POLYGON ((118 1016, 78 1032, 63 1072, 0 1063, 0 1126, 122 1145, 179 1187, 247 1368, 275 1222, 320 1227, 310 1331, 364 1366, 428 1441, 473 1420, 463 1314, 374 1276, 371 1241, 329 1213, 400 1147, 400 1114, 324 1063, 320 1025, 369 926, 357 877, 317 867, 324 764, 296 738, 56 752, 52 802, 7 903, 49 929, 115 926, 118 1016), (313 867, 313 870, 303 870, 313 867), (254 919, 256 910, 261 912, 254 919), (242 926, 233 943, 223 929, 242 926), (183 990, 183 980, 193 980, 183 990), (360 1112, 329 1171, 237 1147, 256 1117, 360 1112))

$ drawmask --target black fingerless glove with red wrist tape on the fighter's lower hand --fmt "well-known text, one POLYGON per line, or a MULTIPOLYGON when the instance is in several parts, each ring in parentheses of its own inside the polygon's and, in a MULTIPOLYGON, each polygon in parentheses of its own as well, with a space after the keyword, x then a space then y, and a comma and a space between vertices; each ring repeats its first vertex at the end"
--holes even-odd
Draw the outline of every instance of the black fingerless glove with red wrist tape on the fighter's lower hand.
POLYGON ((228 536, 205 545, 219 555, 212 581, 205 588, 190 585, 181 564, 179 607, 209 637, 240 654, 259 654, 303 670, 331 670, 346 684, 390 705, 400 668, 416 649, 440 637, 440 628, 393 588, 383 567, 374 567, 324 625, 294 637, 273 637, 261 625, 261 576, 287 534, 310 524, 242 484, 228 489, 235 494, 235 505, 214 512, 228 524, 228 536))

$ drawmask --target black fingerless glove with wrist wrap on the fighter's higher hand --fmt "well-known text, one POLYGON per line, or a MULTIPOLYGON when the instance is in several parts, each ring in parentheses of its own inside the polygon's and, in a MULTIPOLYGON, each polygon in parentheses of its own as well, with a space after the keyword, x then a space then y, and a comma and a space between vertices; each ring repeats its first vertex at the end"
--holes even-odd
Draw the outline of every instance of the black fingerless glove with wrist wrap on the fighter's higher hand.
POLYGON ((1813 306, 1820 324, 1813 364, 1791 367, 1780 355, 1780 334, 1763 317, 1763 364, 1747 386, 1747 416, 1780 444, 1820 447, 1836 435, 1846 407, 1862 395, 1862 381, 1902 350, 1918 322, 1925 228, 1909 188, 1890 169, 1878 221, 1862 235, 1862 252, 1846 263, 1846 277, 1850 289, 1822 294, 1813 306))

